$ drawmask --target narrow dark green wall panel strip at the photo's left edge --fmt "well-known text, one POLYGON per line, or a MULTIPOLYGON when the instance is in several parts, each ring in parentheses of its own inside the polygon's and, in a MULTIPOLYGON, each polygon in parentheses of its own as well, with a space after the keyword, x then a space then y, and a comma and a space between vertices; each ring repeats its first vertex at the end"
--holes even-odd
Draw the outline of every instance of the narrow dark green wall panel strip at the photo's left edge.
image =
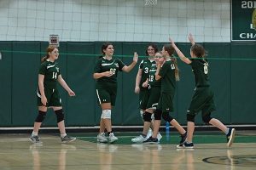
POLYGON ((11 92, 12 92, 12 53, 3 52, 11 51, 11 42, 0 42, 0 126, 11 125, 11 92))

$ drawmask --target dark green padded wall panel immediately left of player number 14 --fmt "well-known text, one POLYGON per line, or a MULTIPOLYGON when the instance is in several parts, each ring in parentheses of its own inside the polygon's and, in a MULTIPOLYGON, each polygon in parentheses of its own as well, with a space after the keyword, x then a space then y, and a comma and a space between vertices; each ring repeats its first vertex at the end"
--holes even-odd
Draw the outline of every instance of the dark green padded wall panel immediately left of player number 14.
MULTIPOLYGON (((40 42, 13 42, 13 51, 40 51, 40 42)), ((37 109, 38 66, 40 54, 13 53, 12 123, 33 125, 37 109)))

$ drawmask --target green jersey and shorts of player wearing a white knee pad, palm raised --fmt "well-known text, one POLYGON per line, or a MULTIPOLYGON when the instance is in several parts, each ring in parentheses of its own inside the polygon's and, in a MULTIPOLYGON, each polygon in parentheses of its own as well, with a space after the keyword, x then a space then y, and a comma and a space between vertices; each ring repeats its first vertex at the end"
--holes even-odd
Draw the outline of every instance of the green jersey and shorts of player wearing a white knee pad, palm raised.
POLYGON ((96 62, 94 73, 112 71, 111 77, 101 77, 96 80, 96 95, 99 104, 111 103, 115 105, 117 94, 117 75, 122 71, 125 64, 120 59, 106 59, 102 57, 96 62))

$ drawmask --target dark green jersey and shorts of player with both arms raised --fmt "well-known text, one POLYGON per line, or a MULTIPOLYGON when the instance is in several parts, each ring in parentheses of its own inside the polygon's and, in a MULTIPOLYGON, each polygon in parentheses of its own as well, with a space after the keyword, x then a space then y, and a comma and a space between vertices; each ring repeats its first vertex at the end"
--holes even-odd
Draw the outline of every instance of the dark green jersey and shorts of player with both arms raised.
POLYGON ((213 92, 208 77, 208 63, 204 59, 190 59, 195 75, 195 94, 189 105, 188 114, 195 115, 201 111, 202 116, 215 111, 213 92))

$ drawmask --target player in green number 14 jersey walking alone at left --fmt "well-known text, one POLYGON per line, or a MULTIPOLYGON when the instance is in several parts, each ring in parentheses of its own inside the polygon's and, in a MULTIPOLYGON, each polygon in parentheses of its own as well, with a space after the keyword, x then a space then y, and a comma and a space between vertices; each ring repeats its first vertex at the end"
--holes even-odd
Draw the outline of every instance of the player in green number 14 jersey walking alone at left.
POLYGON ((34 122, 33 132, 30 140, 34 144, 42 144, 38 138, 38 131, 46 116, 48 108, 55 111, 57 124, 61 133, 61 142, 72 142, 75 138, 67 136, 64 123, 64 114, 62 111, 61 98, 57 89, 57 82, 67 91, 70 96, 75 96, 75 93, 67 86, 67 83, 61 77, 61 71, 58 63, 55 62, 59 58, 58 48, 49 46, 47 55, 42 59, 42 64, 38 75, 38 116, 34 122))

